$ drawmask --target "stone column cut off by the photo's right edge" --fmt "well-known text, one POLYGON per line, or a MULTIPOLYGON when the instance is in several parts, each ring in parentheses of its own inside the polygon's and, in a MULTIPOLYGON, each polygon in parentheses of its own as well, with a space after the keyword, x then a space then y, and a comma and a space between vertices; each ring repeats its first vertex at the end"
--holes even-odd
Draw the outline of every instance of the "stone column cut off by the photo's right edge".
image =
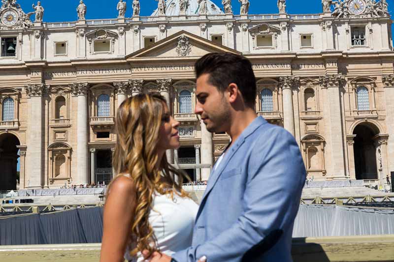
POLYGON ((394 172, 394 75, 383 75, 382 82, 385 89, 387 132, 390 134, 387 142, 389 174, 386 175, 390 176, 390 172, 394 172))

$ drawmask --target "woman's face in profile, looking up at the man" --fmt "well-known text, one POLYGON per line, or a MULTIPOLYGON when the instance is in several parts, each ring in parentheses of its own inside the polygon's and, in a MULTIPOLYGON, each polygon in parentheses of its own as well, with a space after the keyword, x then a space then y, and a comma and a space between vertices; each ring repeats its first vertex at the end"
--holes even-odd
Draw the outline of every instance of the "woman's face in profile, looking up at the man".
POLYGON ((179 122, 170 115, 168 107, 165 105, 162 117, 162 126, 159 130, 159 150, 179 148, 178 126, 179 122))

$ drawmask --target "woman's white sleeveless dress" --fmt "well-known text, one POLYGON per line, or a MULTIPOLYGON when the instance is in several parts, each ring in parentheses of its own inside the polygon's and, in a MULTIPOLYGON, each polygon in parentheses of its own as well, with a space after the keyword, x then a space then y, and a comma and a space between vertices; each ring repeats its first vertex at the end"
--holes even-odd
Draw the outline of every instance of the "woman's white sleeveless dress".
MULTIPOLYGON (((153 198, 153 209, 149 214, 149 223, 158 241, 158 248, 165 255, 184 250, 192 245, 193 228, 198 211, 198 205, 190 198, 182 198, 174 194, 174 200, 170 195, 156 193, 153 198)), ((132 258, 128 247, 125 259, 131 262, 142 262, 140 252, 137 258, 132 258)))

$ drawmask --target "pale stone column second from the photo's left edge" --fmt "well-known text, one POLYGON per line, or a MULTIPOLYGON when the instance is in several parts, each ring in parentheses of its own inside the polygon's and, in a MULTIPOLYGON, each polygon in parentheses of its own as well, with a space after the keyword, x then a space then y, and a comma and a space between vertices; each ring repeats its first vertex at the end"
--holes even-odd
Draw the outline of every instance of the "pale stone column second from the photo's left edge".
POLYGON ((88 175, 88 83, 74 83, 69 85, 74 96, 77 97, 77 174, 74 184, 87 184, 88 175))

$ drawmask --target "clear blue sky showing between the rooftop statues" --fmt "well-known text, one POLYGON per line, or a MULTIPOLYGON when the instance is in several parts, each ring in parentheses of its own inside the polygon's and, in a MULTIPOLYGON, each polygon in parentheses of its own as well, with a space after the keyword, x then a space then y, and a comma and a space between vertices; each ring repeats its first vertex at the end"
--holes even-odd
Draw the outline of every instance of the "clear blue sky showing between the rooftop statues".
MULTIPOLYGON (((118 14, 116 4, 119 0, 84 0, 87 6, 86 19, 106 19, 115 18, 118 14)), ((32 12, 32 0, 18 0, 23 10, 32 12)), ((36 2, 36 0, 35 0, 36 2)), ((126 0, 128 4, 126 17, 132 14, 131 2, 126 0)), ((213 0, 219 7, 222 7, 222 0, 213 0)), ((250 0, 250 14, 274 14, 278 13, 276 0, 250 0)), ((390 11, 393 11, 394 0, 387 0, 390 11)), ((79 0, 41 0, 42 6, 45 8, 44 22, 64 22, 77 20, 76 6, 79 0)), ((140 0, 141 16, 149 16, 157 7, 155 0, 140 0)), ((238 0, 232 0, 232 6, 235 14, 239 14, 238 0)), ((310 14, 322 12, 321 0, 288 0, 287 10, 290 14, 310 14)))

